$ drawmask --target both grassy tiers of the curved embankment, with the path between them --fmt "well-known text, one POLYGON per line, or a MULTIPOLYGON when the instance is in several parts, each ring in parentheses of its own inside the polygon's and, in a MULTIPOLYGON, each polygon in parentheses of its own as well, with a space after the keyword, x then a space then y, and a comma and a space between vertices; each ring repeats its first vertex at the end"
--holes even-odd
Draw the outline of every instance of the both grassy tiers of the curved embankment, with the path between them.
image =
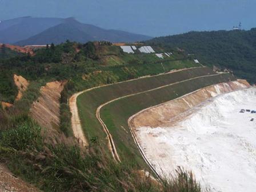
MULTIPOLYGON (((142 157, 138 153, 138 149, 134 144, 127 126, 127 119, 129 116, 143 108, 149 107, 150 104, 159 104, 166 100, 171 100, 176 96, 181 96, 183 93, 185 94, 186 91, 194 91, 195 89, 207 85, 229 81, 231 79, 233 79, 233 77, 229 74, 218 75, 209 68, 199 67, 89 89, 77 98, 79 117, 83 131, 89 140, 98 138, 99 140, 106 141, 106 136, 108 135, 107 140, 109 141, 106 142, 109 143, 109 148, 116 160, 119 160, 120 158, 122 160, 133 160, 139 162, 141 165, 145 165, 142 157), (191 83, 193 86, 191 86, 191 83), (177 93, 173 93, 168 89, 175 85, 177 86, 174 87, 177 89, 177 93), (185 87, 182 88, 182 86, 185 87), (158 94, 159 90, 161 91, 158 94), (164 94, 166 90, 168 93, 167 95, 164 94), (155 93, 157 93, 157 95, 154 95, 155 93), (110 112, 112 110, 111 107, 108 108, 109 105, 106 105, 109 102, 111 106, 115 103, 112 102, 113 100, 119 101, 121 100, 120 97, 131 97, 131 95, 134 94, 137 94, 136 96, 143 95, 143 97, 145 95, 145 99, 147 99, 148 102, 143 102, 143 98, 142 101, 139 101, 138 103, 136 100, 134 101, 135 103, 131 102, 132 107, 130 107, 130 109, 134 110, 127 112, 128 116, 121 111, 122 115, 120 116, 120 119, 120 114, 118 115, 118 118, 116 118, 115 113, 119 113, 119 109, 115 113, 112 113, 110 112), (103 109, 102 111, 101 108, 103 109), (116 124, 111 119, 121 120, 122 125, 118 123, 116 124), (111 138, 112 132, 114 132, 113 138, 111 138), (116 145, 115 140, 117 140, 118 143, 116 145), (115 148, 117 148, 117 151, 115 148), (118 154, 121 154, 121 157, 119 157, 118 154)), ((129 105, 130 101, 125 103, 125 105, 127 104, 129 105)))

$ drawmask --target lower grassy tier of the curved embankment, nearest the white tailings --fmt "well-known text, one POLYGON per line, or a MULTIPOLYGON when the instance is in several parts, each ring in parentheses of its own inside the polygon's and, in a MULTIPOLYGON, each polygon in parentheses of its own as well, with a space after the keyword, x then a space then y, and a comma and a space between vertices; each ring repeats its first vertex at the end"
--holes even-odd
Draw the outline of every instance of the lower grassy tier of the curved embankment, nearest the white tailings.
POLYGON ((121 160, 135 161, 140 165, 144 164, 127 124, 130 116, 142 109, 173 100, 197 89, 234 79, 234 76, 231 76, 230 73, 198 77, 153 91, 138 93, 105 105, 101 110, 101 119, 105 122, 113 137, 121 160))

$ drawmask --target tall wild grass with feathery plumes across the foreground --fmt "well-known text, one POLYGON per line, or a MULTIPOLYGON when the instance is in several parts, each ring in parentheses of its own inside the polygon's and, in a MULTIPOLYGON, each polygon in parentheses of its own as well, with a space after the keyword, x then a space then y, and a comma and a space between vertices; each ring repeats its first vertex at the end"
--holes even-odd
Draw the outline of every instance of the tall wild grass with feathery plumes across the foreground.
POLYGON ((133 162, 115 163, 101 144, 84 149, 60 138, 50 144, 41 133, 30 119, 1 130, 0 160, 43 191, 201 191, 193 174, 182 169, 175 178, 159 183, 139 172, 133 162))

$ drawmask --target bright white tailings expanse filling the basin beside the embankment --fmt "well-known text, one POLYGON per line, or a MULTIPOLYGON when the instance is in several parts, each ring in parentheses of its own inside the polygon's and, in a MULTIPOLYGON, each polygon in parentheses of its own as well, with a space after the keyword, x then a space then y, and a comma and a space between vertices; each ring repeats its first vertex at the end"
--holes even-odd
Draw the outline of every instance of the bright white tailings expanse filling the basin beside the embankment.
POLYGON ((137 128, 137 138, 161 175, 182 166, 211 191, 254 192, 256 114, 241 109, 256 110, 255 87, 207 100, 173 126, 137 128))

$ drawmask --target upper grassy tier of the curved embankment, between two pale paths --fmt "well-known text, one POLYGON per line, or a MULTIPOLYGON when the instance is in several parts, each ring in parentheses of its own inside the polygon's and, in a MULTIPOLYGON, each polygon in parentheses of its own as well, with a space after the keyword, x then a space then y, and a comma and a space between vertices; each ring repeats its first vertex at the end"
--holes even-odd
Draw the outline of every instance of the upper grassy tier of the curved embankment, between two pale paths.
POLYGON ((185 71, 165 73, 163 75, 125 81, 123 83, 111 84, 83 93, 78 96, 77 104, 82 127, 87 138, 90 140, 94 137, 98 137, 100 139, 106 137, 101 124, 99 124, 99 121, 95 117, 96 110, 99 105, 125 95, 147 91, 162 85, 209 74, 213 74, 213 71, 210 70, 210 68, 199 67, 185 71))

